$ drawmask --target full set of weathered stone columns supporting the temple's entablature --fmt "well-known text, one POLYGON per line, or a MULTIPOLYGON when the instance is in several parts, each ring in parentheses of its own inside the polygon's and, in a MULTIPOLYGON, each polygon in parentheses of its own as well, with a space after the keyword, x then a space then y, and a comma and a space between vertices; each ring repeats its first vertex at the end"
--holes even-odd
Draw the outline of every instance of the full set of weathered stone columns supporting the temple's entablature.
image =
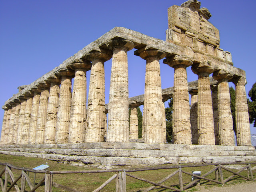
MULTIPOLYGON (((108 142, 128 142, 128 59, 134 43, 114 39, 106 43, 108 51, 90 52, 59 70, 31 92, 6 106, 1 143, 55 144, 102 142, 106 129, 104 62, 112 57, 108 105, 108 142), (86 71, 91 70, 86 109, 86 71), (72 78, 74 78, 73 92, 72 78)), ((145 143, 166 142, 165 109, 162 101, 160 63, 166 57, 161 50, 137 50, 146 60, 142 135, 145 143)), ((174 68, 173 141, 176 144, 234 145, 228 80, 233 75, 215 71, 208 62, 193 64, 186 57, 172 56, 164 63, 174 68), (193 65, 192 65, 193 64, 193 65), (186 68, 198 75, 198 93, 188 95, 186 68), (218 126, 214 126, 209 74, 218 81, 218 126), (196 104, 197 103, 197 104, 196 104), (195 113, 197 111, 196 118, 195 113), (192 120, 193 119, 193 120, 192 120), (218 139, 215 139, 215 136, 218 139)), ((245 92, 245 78, 237 78, 236 124, 239 145, 250 145, 250 126, 245 92), (247 114, 246 114, 247 112, 247 114)), ((130 133, 137 138, 138 120, 132 107, 130 133), (137 129, 137 130, 136 130, 137 129)))

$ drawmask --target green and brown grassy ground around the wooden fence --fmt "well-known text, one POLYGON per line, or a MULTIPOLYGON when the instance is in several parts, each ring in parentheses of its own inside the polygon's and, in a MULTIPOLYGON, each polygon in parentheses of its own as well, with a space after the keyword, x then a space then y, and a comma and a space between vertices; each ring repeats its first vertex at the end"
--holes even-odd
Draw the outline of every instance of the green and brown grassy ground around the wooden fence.
MULTIPOLYGON (((8 162, 12 165, 15 166, 20 166, 20 167, 26 167, 26 168, 34 168, 36 166, 39 166, 41 164, 45 164, 48 162, 48 165, 50 167, 48 170, 97 170, 95 167, 90 167, 90 166, 72 166, 69 164, 64 164, 64 163, 59 163, 55 161, 50 161, 50 160, 45 160, 45 159, 40 159, 40 158, 30 158, 30 157, 23 157, 23 156, 10 156, 10 155, 4 155, 0 154, 0 162, 8 162)), ((252 165, 254 166, 254 165, 252 165)), ((4 166, 0 166, 0 170, 2 170, 4 166)), ((122 167, 122 168, 134 168, 134 167, 122 167)), ((182 170, 185 170, 187 172, 193 172, 193 171, 201 171, 201 175, 205 174, 209 170, 214 168, 214 166, 202 166, 202 167, 197 167, 197 168, 182 168, 182 170)), ((129 174, 138 176, 140 178, 144 178, 147 180, 151 180, 153 182, 158 182, 162 178, 168 176, 172 172, 174 172, 176 169, 164 169, 164 170, 152 170, 152 171, 141 171, 141 172, 131 172, 129 174)), ((232 175, 230 172, 227 172, 225 170, 223 171, 224 179, 227 178, 228 176, 232 175)), ((237 170, 235 170, 237 172, 237 170)), ((17 178, 20 176, 21 171, 20 170, 14 170, 12 169, 12 172, 14 173, 14 177, 17 178)), ((110 172, 110 173, 89 173, 89 174, 54 174, 53 176, 53 181, 62 184, 65 186, 68 186, 70 188, 74 188, 79 191, 87 192, 87 191, 93 191, 96 188, 98 188, 101 184, 103 184, 108 178, 113 176, 115 173, 110 172)), ((240 174, 247 176, 247 171, 244 170, 240 174)), ((256 177, 256 170, 253 170, 253 175, 254 178, 256 177)), ((44 174, 36 174, 36 183, 39 182, 42 178, 44 177, 44 174)), ((191 176, 187 174, 182 174, 183 177, 183 183, 184 186, 191 182, 191 176)), ((4 178, 4 174, 2 175, 2 178, 4 178)), ((212 174, 208 175, 207 178, 214 179, 215 178, 215 172, 212 174)), ((34 182, 34 173, 30 173, 30 180, 32 183, 34 182)), ((10 178, 9 178, 10 181, 10 178)), ((229 184, 236 184, 238 182, 244 182, 245 179, 239 178, 238 176, 234 177, 230 182, 228 182, 226 185, 229 184)), ((17 182, 18 186, 20 186, 20 180, 17 182)), ((166 182, 162 183, 167 186, 172 186, 174 188, 179 188, 179 182, 178 182, 178 174, 173 176, 172 178, 168 179, 166 182)), ((10 185, 10 182, 9 182, 10 185)), ((207 182, 205 180, 201 180, 200 185, 204 185, 206 188, 210 188, 213 185, 218 185, 221 186, 220 184, 216 184, 213 182, 207 182)), ((148 188, 151 186, 151 184, 136 180, 134 178, 131 178, 129 176, 126 176, 126 190, 127 192, 141 192, 144 189, 148 188)), ((30 188, 26 186, 26 191, 29 190, 30 188)), ((11 191, 14 191, 12 189, 11 191)), ((44 186, 41 186, 36 190, 36 192, 43 192, 44 191, 44 186)), ((62 192, 64 190, 60 188, 55 188, 53 187, 54 192, 62 192)), ((115 191, 115 180, 110 182, 106 187, 104 187, 101 191, 108 191, 108 192, 114 192, 115 191)), ((169 192, 171 190, 167 190, 164 188, 156 187, 154 190, 156 191, 164 191, 164 192, 169 192)), ((196 191, 196 187, 190 188, 187 191, 196 191)))

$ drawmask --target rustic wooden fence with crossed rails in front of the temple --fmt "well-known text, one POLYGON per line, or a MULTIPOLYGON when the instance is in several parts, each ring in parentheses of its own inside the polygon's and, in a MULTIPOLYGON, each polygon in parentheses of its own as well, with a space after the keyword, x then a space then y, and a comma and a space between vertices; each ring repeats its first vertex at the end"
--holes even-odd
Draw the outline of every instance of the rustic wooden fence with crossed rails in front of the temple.
POLYGON ((109 182, 111 182, 115 178, 116 178, 116 192, 126 192, 126 176, 130 176, 132 178, 152 184, 151 187, 147 188, 143 192, 148 192, 148 191, 154 189, 156 186, 160 186, 162 188, 168 188, 168 189, 171 189, 174 191, 181 192, 182 190, 186 190, 186 189, 190 188, 191 186, 195 185, 200 180, 212 181, 212 182, 223 185, 224 183, 226 183, 230 179, 232 179, 234 176, 239 176, 246 180, 255 181, 256 178, 253 178, 251 164, 256 164, 256 162, 237 162, 237 163, 221 163, 221 164, 220 163, 206 163, 206 164, 190 164, 190 165, 180 165, 180 166, 172 165, 172 166, 158 166, 158 167, 146 167, 146 168, 135 168, 135 169, 114 169, 114 170, 49 171, 49 170, 33 170, 33 169, 17 167, 17 166, 8 164, 8 163, 0 162, 0 165, 5 166, 5 168, 0 172, 0 184, 2 187, 2 192, 9 192, 13 187, 16 189, 16 192, 24 192, 26 182, 28 182, 28 185, 30 186, 30 192, 34 192, 40 186, 44 186, 45 192, 52 192, 52 186, 54 186, 56 188, 64 189, 68 192, 79 192, 78 190, 72 189, 72 188, 64 186, 62 184, 58 184, 56 182, 53 182, 53 174, 115 172, 115 174, 112 177, 110 177, 106 182, 104 182, 100 187, 95 189, 93 192, 100 191, 102 188, 104 188, 109 182), (242 165, 246 165, 246 166, 241 168, 238 172, 234 172, 234 171, 223 166, 223 165, 234 165, 234 164, 235 165, 242 164, 242 165), (214 165, 215 167, 202 176, 194 175, 192 173, 182 170, 182 168, 185 168, 185 167, 201 167, 201 166, 209 166, 209 165, 214 165), (16 179, 14 178, 14 174, 12 173, 12 170, 11 170, 12 168, 16 169, 16 170, 22 170, 22 173, 16 179), (134 176, 134 175, 128 173, 128 172, 160 170, 160 169, 177 169, 177 170, 175 170, 170 175, 166 176, 165 178, 163 178, 162 180, 160 180, 157 183, 152 182, 150 180, 143 179, 143 178, 139 178, 137 176, 134 176), (224 169, 228 172, 231 172, 232 175, 224 180, 223 174, 222 174, 222 169, 224 169), (240 172, 242 172, 245 169, 247 169, 247 177, 240 174, 240 172), (214 171, 215 171, 215 180, 206 178, 206 176, 208 176, 209 174, 211 174, 214 171), (41 173, 41 174, 44 174, 44 177, 38 182, 38 184, 34 185, 30 181, 30 178, 29 178, 27 172, 41 173), (5 173, 5 178, 3 179, 2 175, 4 173, 5 173), (192 182, 190 182, 189 184, 184 186, 183 181, 182 181, 182 173, 188 174, 190 176, 194 176, 197 179, 193 180, 192 182), (179 187, 180 187, 179 189, 162 184, 164 181, 168 180, 175 174, 178 174, 179 187), (10 176, 10 186, 9 187, 8 187, 8 175, 10 176), (20 178, 21 178, 21 186, 19 188, 19 186, 17 185, 17 182, 18 182, 18 180, 20 180, 20 178), (220 181, 219 181, 219 178, 220 178, 220 181))

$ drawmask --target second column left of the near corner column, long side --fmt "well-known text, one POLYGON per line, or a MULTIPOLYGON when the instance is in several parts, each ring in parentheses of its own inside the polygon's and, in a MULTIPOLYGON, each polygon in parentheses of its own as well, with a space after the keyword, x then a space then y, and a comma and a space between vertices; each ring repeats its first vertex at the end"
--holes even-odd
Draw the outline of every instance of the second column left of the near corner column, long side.
POLYGON ((73 93, 71 100, 69 143, 84 142, 86 128, 86 71, 91 69, 91 63, 76 59, 70 67, 75 70, 73 93))

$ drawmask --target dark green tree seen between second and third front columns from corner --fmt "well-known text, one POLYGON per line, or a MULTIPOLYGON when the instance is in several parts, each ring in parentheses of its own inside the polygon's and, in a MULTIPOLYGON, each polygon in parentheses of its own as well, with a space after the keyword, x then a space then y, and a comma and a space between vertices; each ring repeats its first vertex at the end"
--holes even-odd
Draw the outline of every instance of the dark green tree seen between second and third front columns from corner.
POLYGON ((168 107, 165 108, 165 116, 166 116, 166 141, 168 143, 172 142, 172 105, 173 105, 173 99, 170 99, 170 102, 168 102, 168 107))

